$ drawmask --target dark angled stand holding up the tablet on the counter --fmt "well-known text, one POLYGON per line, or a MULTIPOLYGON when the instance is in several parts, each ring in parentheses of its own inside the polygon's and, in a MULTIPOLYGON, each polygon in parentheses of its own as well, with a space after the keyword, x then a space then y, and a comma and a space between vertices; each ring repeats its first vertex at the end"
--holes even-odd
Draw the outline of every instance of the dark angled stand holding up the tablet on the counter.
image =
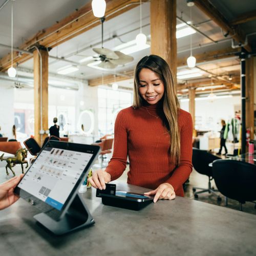
POLYGON ((59 221, 53 220, 44 212, 35 215, 34 218, 57 235, 69 233, 78 228, 94 224, 93 217, 78 194, 75 196, 66 214, 59 221))

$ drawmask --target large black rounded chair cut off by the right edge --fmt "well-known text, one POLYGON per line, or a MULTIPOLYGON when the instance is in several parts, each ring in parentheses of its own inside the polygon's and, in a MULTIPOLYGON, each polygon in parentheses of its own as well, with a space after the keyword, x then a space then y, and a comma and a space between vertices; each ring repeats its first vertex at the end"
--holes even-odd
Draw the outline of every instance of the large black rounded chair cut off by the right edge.
MULTIPOLYGON (((212 174, 220 193, 242 204, 256 200, 256 165, 238 160, 216 160, 212 174)), ((256 202, 254 208, 256 208, 256 202)))

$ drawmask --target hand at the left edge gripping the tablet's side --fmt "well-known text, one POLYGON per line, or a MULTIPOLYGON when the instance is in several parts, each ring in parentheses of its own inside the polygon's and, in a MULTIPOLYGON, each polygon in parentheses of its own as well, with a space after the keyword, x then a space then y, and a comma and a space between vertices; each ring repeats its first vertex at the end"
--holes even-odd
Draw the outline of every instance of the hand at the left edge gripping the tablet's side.
POLYGON ((13 190, 23 176, 24 174, 21 174, 0 184, 0 210, 9 207, 19 199, 18 196, 14 195, 13 190))

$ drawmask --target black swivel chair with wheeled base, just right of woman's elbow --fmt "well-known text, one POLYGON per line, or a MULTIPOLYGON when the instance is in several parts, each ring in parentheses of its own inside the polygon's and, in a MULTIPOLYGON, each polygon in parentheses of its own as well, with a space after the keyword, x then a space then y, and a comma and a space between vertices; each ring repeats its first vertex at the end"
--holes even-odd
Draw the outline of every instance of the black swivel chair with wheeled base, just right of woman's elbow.
POLYGON ((212 155, 208 153, 205 150, 199 150, 198 148, 193 147, 193 156, 192 156, 192 163, 195 168, 195 170, 203 175, 208 176, 208 188, 201 188, 201 187, 193 187, 194 191, 194 197, 198 198, 198 194, 208 192, 209 194, 212 193, 216 195, 218 198, 218 201, 221 201, 221 197, 216 193, 218 192, 217 189, 214 189, 211 187, 210 181, 213 179, 212 178, 212 170, 211 167, 209 166, 209 163, 212 163, 213 161, 220 159, 219 157, 212 155), (197 189, 200 189, 201 191, 197 191, 197 189))

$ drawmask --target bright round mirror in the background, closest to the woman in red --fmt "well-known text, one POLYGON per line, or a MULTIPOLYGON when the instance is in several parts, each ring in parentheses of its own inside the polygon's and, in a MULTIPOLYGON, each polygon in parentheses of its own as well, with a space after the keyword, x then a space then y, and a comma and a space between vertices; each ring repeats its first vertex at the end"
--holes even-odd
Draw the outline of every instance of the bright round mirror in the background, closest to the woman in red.
POLYGON ((77 123, 77 129, 82 134, 89 135, 94 129, 94 115, 89 110, 80 113, 77 123))

